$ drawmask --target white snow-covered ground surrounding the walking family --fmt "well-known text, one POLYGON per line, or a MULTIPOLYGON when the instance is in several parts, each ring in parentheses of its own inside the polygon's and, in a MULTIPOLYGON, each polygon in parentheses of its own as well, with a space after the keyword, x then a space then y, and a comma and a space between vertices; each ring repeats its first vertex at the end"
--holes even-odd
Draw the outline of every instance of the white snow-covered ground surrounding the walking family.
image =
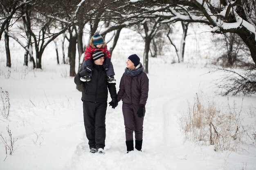
MULTIPOLYGON (((143 55, 142 40, 139 36, 130 38, 131 34, 134 33, 128 30, 121 32, 120 43, 112 55, 117 89, 127 57, 132 53, 143 55)), ((6 159, 4 144, 0 141, 0 170, 256 170, 256 141, 250 140, 251 134, 237 152, 216 152, 213 146, 184 142, 180 117, 196 93, 203 91, 220 106, 228 101, 227 96, 216 93, 219 89, 213 84, 222 73, 208 73, 210 69, 205 63, 209 62, 201 62, 214 52, 198 45, 204 35, 197 34, 196 42, 193 36, 188 37, 187 44, 191 44, 187 47, 185 63, 171 64, 168 55, 173 54, 170 53, 149 59, 143 152, 126 154, 122 103, 119 102, 117 108, 107 109, 105 155, 89 152, 81 92, 76 90, 74 78, 68 76, 69 65, 56 65, 54 46, 43 55, 43 69, 33 70, 23 66, 24 51, 11 42, 12 68, 8 70, 2 40, 0 87, 9 92, 11 108, 8 120, 0 116, 0 133, 8 141, 9 126, 17 141, 13 155, 7 154, 6 159)), ((240 117, 243 124, 252 125, 255 132, 256 95, 229 96, 229 102, 236 102, 237 108, 241 107, 242 100, 240 117)))

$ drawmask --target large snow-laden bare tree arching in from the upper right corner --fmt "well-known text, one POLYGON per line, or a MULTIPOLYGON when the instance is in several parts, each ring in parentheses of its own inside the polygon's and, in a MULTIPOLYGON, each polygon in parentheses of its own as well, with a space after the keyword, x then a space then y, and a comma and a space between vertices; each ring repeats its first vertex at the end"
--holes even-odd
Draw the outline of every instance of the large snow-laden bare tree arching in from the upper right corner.
POLYGON ((144 9, 147 12, 144 11, 141 15, 155 11, 151 17, 164 17, 165 20, 162 23, 200 22, 211 26, 213 28, 212 33, 236 33, 248 46, 251 57, 256 64, 256 10, 254 1, 140 0, 131 3, 145 5, 144 9))

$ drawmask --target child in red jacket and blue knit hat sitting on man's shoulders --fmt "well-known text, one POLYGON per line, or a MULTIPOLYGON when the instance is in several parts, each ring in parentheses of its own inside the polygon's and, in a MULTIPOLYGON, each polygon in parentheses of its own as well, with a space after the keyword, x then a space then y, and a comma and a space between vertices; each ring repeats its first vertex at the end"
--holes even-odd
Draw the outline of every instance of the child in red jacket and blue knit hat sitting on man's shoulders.
POLYGON ((97 32, 94 33, 94 35, 90 39, 89 45, 86 46, 86 48, 85 48, 85 55, 84 55, 85 61, 83 62, 82 68, 86 69, 87 75, 81 77, 80 80, 83 82, 91 80, 91 77, 92 77, 92 53, 95 50, 103 51, 103 53, 105 55, 105 62, 106 62, 105 70, 106 70, 106 73, 108 76, 108 83, 115 83, 116 82, 116 80, 114 78, 115 72, 114 72, 113 64, 110 61, 111 56, 108 51, 107 44, 106 44, 106 42, 104 42, 101 35, 97 32))

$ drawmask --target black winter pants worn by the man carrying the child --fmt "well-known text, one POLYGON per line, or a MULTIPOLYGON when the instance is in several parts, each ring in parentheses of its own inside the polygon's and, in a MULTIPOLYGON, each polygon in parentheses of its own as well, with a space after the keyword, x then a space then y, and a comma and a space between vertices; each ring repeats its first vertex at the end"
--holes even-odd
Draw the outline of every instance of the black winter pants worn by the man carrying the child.
POLYGON ((83 101, 83 121, 90 149, 105 147, 107 106, 107 101, 98 103, 83 101))

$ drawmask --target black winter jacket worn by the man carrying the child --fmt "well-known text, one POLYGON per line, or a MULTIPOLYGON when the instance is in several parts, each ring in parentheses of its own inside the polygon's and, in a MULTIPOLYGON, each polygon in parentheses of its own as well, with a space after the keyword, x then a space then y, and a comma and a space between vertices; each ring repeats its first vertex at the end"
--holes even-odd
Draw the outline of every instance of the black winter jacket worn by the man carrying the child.
POLYGON ((82 84, 82 100, 89 102, 104 102, 108 100, 108 90, 110 97, 117 97, 115 83, 107 82, 107 75, 103 65, 93 64, 92 80, 82 82, 79 73, 76 74, 74 82, 76 85, 82 84))

